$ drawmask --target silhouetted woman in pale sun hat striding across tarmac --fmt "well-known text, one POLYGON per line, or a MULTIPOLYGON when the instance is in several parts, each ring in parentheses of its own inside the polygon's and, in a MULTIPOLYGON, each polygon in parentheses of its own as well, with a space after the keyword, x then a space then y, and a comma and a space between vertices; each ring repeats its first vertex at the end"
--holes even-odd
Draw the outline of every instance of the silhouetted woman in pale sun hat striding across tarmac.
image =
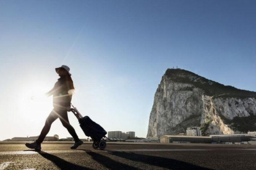
POLYGON ((69 124, 69 118, 67 117, 67 111, 70 111, 70 102, 74 92, 74 84, 71 78, 71 74, 69 73, 70 68, 66 65, 62 65, 59 68, 55 68, 55 70, 56 73, 59 74, 60 78, 54 84, 53 89, 46 93, 47 96, 53 95, 54 108, 46 119, 45 126, 43 127, 38 139, 31 144, 25 144, 28 148, 41 150, 41 143, 48 134, 49 129, 51 128, 51 124, 58 118, 61 120, 62 125, 67 128, 67 131, 69 131, 69 134, 75 140, 74 146, 70 148, 75 149, 79 147, 79 145, 83 144, 82 140, 80 140, 77 136, 75 129, 69 124))

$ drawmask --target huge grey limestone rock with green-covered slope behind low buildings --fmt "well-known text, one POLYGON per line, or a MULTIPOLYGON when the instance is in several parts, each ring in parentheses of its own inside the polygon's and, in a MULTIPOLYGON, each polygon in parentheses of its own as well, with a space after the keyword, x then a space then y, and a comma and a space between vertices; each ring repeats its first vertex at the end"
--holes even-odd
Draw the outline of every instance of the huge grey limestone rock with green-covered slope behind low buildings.
POLYGON ((176 135, 192 126, 205 136, 256 131, 256 92, 168 69, 155 93, 147 137, 176 135))

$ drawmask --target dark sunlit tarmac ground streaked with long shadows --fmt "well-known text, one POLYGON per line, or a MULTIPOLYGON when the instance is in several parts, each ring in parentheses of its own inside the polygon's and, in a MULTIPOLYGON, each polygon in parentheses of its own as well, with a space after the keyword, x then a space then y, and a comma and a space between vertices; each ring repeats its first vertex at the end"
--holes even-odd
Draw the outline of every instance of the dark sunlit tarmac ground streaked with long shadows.
POLYGON ((2 169, 256 169, 256 146, 213 144, 108 143, 105 151, 88 142, 48 142, 41 152, 24 142, 0 142, 2 169))

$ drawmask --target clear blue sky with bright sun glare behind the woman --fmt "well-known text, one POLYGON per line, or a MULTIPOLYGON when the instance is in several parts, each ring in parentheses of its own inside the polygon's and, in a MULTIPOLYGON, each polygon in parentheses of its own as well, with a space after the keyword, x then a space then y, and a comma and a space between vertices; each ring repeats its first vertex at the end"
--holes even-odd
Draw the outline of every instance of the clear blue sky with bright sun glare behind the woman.
MULTIPOLYGON (((106 131, 146 137, 154 95, 178 67, 256 91, 256 1, 0 1, 0 140, 38 136, 68 65, 72 103, 106 131)), ((69 113, 78 136, 86 138, 69 113)), ((48 136, 70 137, 57 119, 48 136)))

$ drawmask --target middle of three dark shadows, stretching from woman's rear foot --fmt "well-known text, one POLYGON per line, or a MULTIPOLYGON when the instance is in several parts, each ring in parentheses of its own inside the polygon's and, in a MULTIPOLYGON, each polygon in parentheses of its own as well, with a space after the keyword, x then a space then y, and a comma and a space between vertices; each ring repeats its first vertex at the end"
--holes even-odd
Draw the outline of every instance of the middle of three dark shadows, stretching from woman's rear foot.
POLYGON ((93 160, 104 165, 106 168, 109 168, 109 169, 134 169, 134 170, 136 169, 137 170, 137 168, 134 168, 127 164, 119 163, 117 161, 112 160, 108 156, 104 156, 99 153, 92 152, 91 150, 85 150, 85 149, 77 149, 77 150, 83 150, 88 155, 92 156, 93 160))

